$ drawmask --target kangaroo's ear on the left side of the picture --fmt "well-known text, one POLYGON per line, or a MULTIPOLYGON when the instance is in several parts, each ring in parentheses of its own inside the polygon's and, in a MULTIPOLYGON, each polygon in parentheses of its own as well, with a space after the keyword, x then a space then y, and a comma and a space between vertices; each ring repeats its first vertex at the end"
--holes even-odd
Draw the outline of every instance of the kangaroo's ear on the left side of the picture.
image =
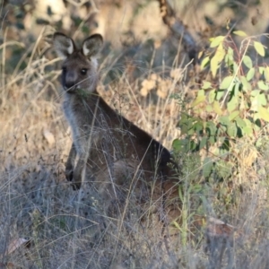
POLYGON ((53 46, 57 56, 65 59, 74 52, 74 41, 66 37, 61 32, 56 32, 53 36, 53 46))

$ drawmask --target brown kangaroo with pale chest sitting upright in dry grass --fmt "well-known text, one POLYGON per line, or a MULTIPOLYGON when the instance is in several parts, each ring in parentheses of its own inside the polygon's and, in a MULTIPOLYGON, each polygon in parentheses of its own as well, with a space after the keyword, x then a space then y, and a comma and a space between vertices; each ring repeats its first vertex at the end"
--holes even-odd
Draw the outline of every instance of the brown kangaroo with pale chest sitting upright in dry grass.
MULTIPOLYGON (((176 164, 169 151, 110 108, 96 90, 97 55, 102 43, 100 34, 84 39, 82 48, 63 33, 56 32, 53 37, 56 53, 64 60, 63 108, 73 135, 65 177, 78 189, 83 178, 123 185, 131 175, 144 178, 149 185, 156 182, 154 192, 158 195, 167 194, 168 189, 177 193, 178 187, 174 186, 178 178, 173 178, 176 164), (161 190, 163 187, 166 189, 161 190)), ((138 183, 136 188, 139 187, 138 183)))

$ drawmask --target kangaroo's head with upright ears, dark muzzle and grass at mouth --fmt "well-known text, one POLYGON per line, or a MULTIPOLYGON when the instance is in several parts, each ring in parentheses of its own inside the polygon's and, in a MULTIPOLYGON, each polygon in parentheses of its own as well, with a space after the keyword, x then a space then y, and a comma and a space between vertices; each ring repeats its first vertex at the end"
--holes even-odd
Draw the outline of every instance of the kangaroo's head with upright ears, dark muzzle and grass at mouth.
POLYGON ((100 52, 103 39, 94 34, 85 39, 82 48, 76 48, 74 40, 56 32, 53 46, 58 56, 63 58, 62 85, 68 93, 94 91, 98 82, 96 56, 100 52))

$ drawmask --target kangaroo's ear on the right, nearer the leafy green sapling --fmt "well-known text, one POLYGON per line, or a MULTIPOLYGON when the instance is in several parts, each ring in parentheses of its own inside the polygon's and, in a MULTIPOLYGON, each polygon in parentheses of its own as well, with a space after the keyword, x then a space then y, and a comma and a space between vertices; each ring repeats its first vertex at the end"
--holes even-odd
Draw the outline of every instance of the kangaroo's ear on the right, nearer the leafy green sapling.
POLYGON ((103 38, 100 34, 94 34, 85 39, 82 45, 83 55, 86 57, 96 56, 103 45, 103 38))

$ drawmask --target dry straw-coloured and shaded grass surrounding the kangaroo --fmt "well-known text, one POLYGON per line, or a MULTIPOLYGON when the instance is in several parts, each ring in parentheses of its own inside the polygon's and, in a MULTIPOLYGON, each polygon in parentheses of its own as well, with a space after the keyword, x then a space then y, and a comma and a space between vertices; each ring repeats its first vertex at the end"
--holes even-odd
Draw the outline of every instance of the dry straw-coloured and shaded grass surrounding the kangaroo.
MULTIPOLYGON (((3 9, 2 17, 15 20, 9 8, 13 14, 3 9)), ((251 140, 235 143, 237 160, 223 156, 228 176, 221 180, 206 181, 196 154, 176 156, 183 187, 175 236, 132 198, 124 212, 115 204, 108 214, 92 186, 74 191, 65 180, 72 138, 60 105, 59 59, 48 50, 53 30, 42 26, 35 36, 15 22, 7 27, 3 19, 0 29, 0 268, 269 267, 267 140, 259 149, 251 140)), ((204 75, 184 51, 169 36, 120 49, 107 43, 100 56, 100 94, 169 149, 204 75)), ((266 134, 265 126, 256 139, 266 134)))

